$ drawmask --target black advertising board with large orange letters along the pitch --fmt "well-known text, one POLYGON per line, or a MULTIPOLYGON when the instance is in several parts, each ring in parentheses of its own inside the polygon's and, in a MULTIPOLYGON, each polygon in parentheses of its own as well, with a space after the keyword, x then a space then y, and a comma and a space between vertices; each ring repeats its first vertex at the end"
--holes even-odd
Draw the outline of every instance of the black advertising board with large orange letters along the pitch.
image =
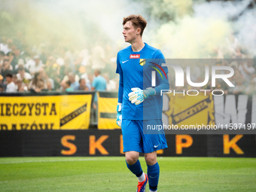
MULTIPOLYGON (((255 135, 166 135, 163 157, 256 157, 255 135)), ((0 157, 124 156, 121 130, 0 132, 0 157)))

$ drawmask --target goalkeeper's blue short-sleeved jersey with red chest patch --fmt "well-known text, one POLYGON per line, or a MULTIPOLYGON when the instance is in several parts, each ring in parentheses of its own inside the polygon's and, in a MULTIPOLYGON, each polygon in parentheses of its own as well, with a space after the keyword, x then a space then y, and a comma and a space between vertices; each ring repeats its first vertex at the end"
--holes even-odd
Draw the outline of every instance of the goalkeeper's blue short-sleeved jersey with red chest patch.
MULTIPOLYGON (((120 75, 118 102, 122 103, 122 118, 128 120, 162 119, 163 96, 149 96, 139 105, 132 104, 128 94, 132 88, 145 90, 152 87, 152 71, 155 71, 155 87, 161 82, 168 84, 167 67, 161 67, 164 61, 163 53, 145 43, 139 52, 132 47, 126 47, 117 53, 117 73, 120 75), (123 90, 122 90, 123 87, 123 90)), ((154 88, 154 87, 153 87, 154 88)))

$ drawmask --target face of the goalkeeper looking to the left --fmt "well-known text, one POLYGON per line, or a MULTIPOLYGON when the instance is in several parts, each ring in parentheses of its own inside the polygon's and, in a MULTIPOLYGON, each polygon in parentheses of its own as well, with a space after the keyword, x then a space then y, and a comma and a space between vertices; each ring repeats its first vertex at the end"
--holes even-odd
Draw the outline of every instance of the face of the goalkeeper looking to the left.
POLYGON ((139 35, 139 28, 134 28, 133 23, 129 20, 123 26, 124 41, 132 43, 139 35))

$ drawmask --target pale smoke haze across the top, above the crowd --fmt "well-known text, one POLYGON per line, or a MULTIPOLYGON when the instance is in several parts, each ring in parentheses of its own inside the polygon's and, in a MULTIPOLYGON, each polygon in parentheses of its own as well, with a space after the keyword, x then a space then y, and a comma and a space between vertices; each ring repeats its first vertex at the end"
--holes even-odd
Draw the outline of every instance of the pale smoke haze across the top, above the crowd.
POLYGON ((160 48, 166 58, 217 57, 234 34, 242 49, 256 55, 255 6, 251 1, 191 0, 1 0, 0 36, 23 32, 29 44, 82 49, 96 44, 111 55, 128 46, 121 34, 123 17, 142 14, 148 21, 143 40, 160 48))

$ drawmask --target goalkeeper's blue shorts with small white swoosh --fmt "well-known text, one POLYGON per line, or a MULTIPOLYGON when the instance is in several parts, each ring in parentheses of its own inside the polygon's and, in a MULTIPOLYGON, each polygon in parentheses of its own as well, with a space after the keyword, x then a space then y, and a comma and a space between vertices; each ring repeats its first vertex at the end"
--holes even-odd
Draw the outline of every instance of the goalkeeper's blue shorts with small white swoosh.
POLYGON ((167 148, 162 120, 122 120, 123 152, 151 153, 167 148))

